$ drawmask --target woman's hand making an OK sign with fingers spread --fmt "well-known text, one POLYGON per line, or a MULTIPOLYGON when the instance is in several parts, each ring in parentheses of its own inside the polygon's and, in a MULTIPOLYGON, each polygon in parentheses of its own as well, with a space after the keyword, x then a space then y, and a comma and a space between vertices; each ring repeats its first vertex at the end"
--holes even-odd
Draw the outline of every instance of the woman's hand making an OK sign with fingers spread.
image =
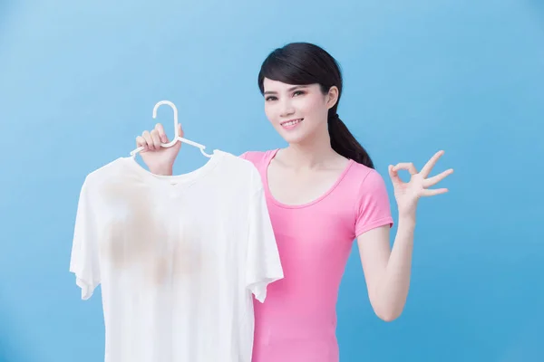
POLYGON ((411 162, 403 162, 395 166, 389 166, 389 176, 393 181, 394 197, 397 202, 400 215, 414 215, 417 202, 422 196, 440 195, 448 192, 447 188, 428 189, 442 181, 446 176, 452 174, 453 169, 450 168, 441 174, 429 177, 432 167, 436 161, 444 154, 439 151, 431 157, 420 172, 413 166, 411 162), (410 172, 410 181, 403 182, 398 175, 399 170, 407 170, 410 172))

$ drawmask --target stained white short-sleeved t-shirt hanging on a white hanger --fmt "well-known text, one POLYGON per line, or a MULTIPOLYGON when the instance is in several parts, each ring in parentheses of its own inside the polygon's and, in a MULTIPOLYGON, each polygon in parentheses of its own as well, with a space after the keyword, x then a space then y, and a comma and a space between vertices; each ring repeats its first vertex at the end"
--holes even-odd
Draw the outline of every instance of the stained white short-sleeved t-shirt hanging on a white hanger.
POLYGON ((253 295, 283 278, 258 171, 219 150, 180 176, 89 174, 70 271, 83 300, 102 287, 106 362, 249 362, 253 295))

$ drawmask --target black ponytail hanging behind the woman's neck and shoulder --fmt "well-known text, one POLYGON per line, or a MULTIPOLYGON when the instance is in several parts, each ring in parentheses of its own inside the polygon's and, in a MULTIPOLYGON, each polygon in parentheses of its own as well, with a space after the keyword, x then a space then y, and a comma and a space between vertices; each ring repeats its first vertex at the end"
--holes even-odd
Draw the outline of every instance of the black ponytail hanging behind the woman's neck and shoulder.
POLYGON ((374 163, 368 155, 368 152, 345 127, 344 122, 338 117, 337 113, 330 114, 327 119, 329 136, 331 138, 331 147, 336 153, 346 158, 353 159, 366 167, 374 168, 374 163))

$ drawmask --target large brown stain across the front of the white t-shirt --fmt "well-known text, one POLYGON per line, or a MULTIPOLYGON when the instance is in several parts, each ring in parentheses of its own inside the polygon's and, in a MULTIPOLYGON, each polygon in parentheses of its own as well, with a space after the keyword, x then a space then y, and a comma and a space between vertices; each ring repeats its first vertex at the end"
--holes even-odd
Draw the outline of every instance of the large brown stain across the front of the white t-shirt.
POLYGON ((166 201, 153 199, 148 186, 122 179, 105 183, 101 191, 119 212, 113 211, 102 237, 102 256, 112 267, 141 272, 154 286, 202 270, 204 256, 191 223, 169 220, 167 207, 175 205, 161 205, 166 201))

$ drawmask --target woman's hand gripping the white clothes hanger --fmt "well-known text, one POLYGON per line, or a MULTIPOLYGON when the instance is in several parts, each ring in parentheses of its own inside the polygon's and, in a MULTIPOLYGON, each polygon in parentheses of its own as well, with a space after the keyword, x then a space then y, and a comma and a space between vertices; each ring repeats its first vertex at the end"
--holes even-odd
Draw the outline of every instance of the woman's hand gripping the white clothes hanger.
MULTIPOLYGON (((180 137, 183 137, 183 129, 181 124, 178 124, 180 137)), ((181 148, 181 142, 176 142, 170 148, 163 148, 162 143, 168 143, 170 140, 164 132, 164 128, 160 123, 157 123, 155 129, 151 131, 145 130, 141 136, 136 138, 136 147, 143 149, 140 151, 141 158, 145 165, 150 169, 151 173, 157 175, 171 175, 174 161, 178 156, 181 148)))

